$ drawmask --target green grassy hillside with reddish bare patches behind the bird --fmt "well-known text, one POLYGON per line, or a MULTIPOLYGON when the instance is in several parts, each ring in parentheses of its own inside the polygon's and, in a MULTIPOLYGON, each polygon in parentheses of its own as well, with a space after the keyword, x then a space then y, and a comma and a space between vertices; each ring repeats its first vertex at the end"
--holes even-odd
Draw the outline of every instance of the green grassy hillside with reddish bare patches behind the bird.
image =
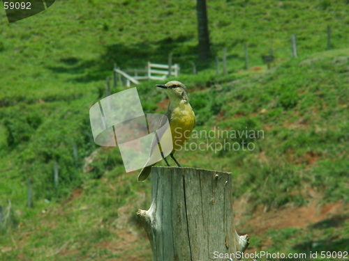
MULTIPOLYGON (((260 139, 229 140, 251 143, 251 151, 195 150, 177 156, 185 166, 232 172, 235 200, 247 200, 247 213, 313 200, 348 203, 348 4, 211 1, 208 8, 212 51, 221 56, 228 48, 225 76, 216 76, 214 61, 197 61, 194 1, 57 1, 14 24, 1 11, 0 205, 5 214, 7 200, 12 204, 8 223, 0 226, 1 260, 151 260, 134 217, 149 207, 150 183, 136 182, 138 172, 124 173, 118 149, 100 148, 91 136, 89 108, 104 97, 104 79, 114 62, 121 69, 143 68, 148 60, 165 63, 172 53, 181 65, 179 81, 190 92, 196 130, 263 132, 260 139), (325 52, 327 24, 333 49, 325 52), (299 58, 290 60, 293 33, 299 58), (269 53, 271 39, 276 67, 267 71, 260 56, 269 53), (191 61, 198 75, 191 75, 191 61), (26 207, 29 179, 33 208, 26 207)), ((165 94, 155 84, 138 86, 146 113, 165 110, 165 94)), ((124 87, 113 92, 120 90, 124 87)), ((206 142, 193 137, 189 144, 206 142)), ((276 233, 269 231, 255 236, 251 247, 297 252, 320 234, 329 241, 315 246, 318 251, 344 251, 348 225, 285 228, 266 247, 263 238, 276 233)), ((245 229, 253 239, 253 230, 245 229)))

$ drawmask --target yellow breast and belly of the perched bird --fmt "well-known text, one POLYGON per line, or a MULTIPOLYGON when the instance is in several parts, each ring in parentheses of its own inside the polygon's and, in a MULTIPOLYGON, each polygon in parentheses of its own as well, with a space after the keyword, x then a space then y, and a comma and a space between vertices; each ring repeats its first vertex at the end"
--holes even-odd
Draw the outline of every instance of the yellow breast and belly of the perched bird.
POLYGON ((177 104, 172 107, 170 127, 172 134, 173 150, 180 150, 181 146, 189 139, 195 126, 195 113, 187 103, 177 104))

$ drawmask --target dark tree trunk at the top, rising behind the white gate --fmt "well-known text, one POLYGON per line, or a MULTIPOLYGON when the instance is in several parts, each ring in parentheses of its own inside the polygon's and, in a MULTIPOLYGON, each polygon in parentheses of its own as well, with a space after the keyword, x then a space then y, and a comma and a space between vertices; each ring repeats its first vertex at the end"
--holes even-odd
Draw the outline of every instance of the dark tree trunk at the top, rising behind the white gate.
POLYGON ((198 13, 199 59, 204 61, 209 58, 210 54, 206 0, 196 1, 196 11, 198 13))

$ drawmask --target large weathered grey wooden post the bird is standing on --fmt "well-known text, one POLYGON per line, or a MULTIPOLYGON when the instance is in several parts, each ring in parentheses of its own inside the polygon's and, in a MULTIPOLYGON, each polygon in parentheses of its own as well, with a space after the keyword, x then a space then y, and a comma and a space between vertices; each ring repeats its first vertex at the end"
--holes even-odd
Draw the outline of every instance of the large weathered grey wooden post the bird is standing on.
POLYGON ((231 173, 152 167, 151 206, 137 215, 153 260, 206 261, 244 251, 248 236, 235 230, 232 189, 231 173))

